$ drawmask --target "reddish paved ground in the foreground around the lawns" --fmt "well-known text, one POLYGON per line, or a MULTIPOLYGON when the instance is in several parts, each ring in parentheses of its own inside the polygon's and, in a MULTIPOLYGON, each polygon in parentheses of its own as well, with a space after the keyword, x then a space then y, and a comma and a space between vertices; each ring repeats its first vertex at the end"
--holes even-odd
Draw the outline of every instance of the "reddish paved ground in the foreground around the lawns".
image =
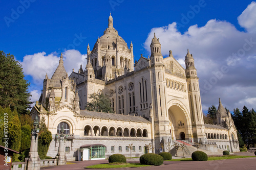
MULTIPOLYGON (((235 155, 248 155, 255 156, 254 153, 234 153, 235 155)), ((181 157, 173 157, 173 159, 181 157)), ((190 158, 190 156, 188 156, 190 158)), ((139 158, 127 159, 128 163, 139 163, 139 158)), ((108 163, 108 160, 92 160, 92 161, 73 161, 74 164, 59 165, 59 166, 49 166, 42 167, 41 169, 52 169, 52 170, 71 170, 71 169, 84 169, 86 166, 108 163)), ((160 166, 147 166, 138 167, 139 170, 150 170, 159 169, 161 170, 182 170, 182 169, 197 169, 197 170, 217 170, 217 169, 256 169, 256 157, 253 158, 239 158, 239 159, 225 159, 225 160, 215 160, 215 161, 164 161, 160 166)), ((131 168, 115 168, 119 169, 136 169, 131 168)))

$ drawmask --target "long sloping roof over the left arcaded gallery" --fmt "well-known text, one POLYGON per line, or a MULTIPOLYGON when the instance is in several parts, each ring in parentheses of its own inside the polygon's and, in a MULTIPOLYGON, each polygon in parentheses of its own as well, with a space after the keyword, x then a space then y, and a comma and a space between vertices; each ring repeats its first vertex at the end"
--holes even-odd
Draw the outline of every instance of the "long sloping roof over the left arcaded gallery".
POLYGON ((80 115, 88 118, 102 118, 102 119, 111 119, 111 120, 125 120, 125 121, 132 121, 132 122, 151 123, 147 119, 140 116, 130 116, 130 115, 123 115, 123 114, 115 114, 115 113, 104 113, 104 112, 80 110, 80 115))

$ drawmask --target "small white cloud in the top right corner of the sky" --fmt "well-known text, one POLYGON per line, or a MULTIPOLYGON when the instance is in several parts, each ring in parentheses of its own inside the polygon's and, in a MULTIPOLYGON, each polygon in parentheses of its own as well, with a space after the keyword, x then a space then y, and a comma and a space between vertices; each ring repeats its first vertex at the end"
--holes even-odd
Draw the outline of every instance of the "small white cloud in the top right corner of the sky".
POLYGON ((250 5, 238 17, 239 25, 245 28, 248 32, 256 32, 256 2, 251 2, 250 5))

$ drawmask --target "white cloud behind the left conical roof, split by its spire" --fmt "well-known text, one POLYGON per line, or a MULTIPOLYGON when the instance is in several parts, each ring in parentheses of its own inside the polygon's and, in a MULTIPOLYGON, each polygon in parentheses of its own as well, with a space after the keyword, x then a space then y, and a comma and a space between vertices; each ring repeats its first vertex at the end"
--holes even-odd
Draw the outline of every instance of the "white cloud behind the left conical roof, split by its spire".
MULTIPOLYGON (((82 55, 77 50, 67 50, 63 52, 64 66, 68 74, 71 74, 73 68, 77 71, 80 68, 80 64, 82 64, 83 69, 85 69, 87 63, 86 57, 87 55, 82 55)), ((45 52, 41 52, 26 55, 20 63, 23 66, 24 74, 32 76, 34 84, 42 85, 46 74, 49 78, 52 77, 53 72, 58 66, 58 62, 59 56, 57 56, 55 52, 49 55, 46 55, 45 52)))

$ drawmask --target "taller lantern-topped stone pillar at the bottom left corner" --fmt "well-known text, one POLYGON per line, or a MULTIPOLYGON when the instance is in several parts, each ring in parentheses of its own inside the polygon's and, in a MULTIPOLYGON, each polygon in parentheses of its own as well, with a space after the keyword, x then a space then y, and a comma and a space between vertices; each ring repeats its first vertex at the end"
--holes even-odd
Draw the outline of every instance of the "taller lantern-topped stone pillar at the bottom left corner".
POLYGON ((38 145, 38 133, 39 133, 39 123, 37 116, 34 120, 34 128, 32 130, 31 135, 31 144, 30 144, 30 151, 29 157, 26 158, 27 160, 27 170, 37 170, 40 169, 40 158, 37 152, 37 145, 38 145))

